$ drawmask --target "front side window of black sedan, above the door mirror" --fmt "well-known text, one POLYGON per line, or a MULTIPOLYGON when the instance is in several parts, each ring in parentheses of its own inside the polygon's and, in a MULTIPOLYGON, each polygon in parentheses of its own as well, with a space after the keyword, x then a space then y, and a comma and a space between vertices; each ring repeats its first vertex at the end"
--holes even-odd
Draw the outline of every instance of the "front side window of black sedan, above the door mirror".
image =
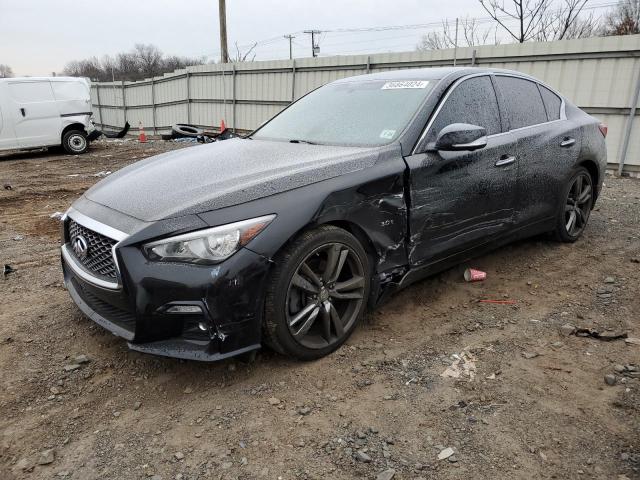
POLYGON ((484 127, 487 135, 501 132, 498 100, 489 77, 473 77, 454 88, 431 125, 428 141, 434 141, 452 123, 484 127))

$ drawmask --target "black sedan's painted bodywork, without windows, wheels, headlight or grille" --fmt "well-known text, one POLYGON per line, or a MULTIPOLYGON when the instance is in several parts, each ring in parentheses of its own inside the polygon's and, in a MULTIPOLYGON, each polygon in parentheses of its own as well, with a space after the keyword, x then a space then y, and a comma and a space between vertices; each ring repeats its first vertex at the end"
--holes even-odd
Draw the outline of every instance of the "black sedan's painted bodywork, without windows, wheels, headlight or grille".
POLYGON ((113 249, 118 288, 96 285, 63 261, 73 300, 133 349, 217 360, 260 347, 275 258, 307 229, 333 224, 361 242, 371 265, 370 305, 457 262, 551 230, 578 165, 593 172, 599 191, 604 139, 597 121, 566 100, 561 118, 512 128, 494 75, 514 74, 460 68, 363 77, 432 82, 412 121, 387 145, 238 139, 123 169, 74 203, 63 239, 70 245, 69 222, 87 218, 98 230, 121 232, 113 249), (458 85, 478 77, 495 88, 499 109, 486 146, 434 150, 432 125, 443 105, 458 85), (561 146, 567 139, 573 142, 561 146), (150 261, 141 251, 152 240, 270 214, 275 219, 263 232, 217 265, 150 261), (171 314, 175 304, 201 313, 171 314))

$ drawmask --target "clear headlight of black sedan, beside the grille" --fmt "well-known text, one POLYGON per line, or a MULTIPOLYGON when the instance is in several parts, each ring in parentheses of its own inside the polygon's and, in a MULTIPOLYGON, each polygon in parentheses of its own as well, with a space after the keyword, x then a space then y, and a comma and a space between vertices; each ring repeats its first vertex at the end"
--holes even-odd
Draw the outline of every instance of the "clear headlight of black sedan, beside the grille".
POLYGON ((275 215, 265 215, 158 240, 144 245, 142 251, 150 260, 219 263, 249 243, 275 217, 275 215))

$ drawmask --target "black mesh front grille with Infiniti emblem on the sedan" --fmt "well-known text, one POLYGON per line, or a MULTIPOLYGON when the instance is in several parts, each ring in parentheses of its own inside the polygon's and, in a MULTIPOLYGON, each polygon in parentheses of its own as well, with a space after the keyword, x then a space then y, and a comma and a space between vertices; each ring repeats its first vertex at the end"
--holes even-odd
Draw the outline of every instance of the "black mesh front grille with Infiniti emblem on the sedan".
POLYGON ((101 277, 115 280, 116 264, 113 259, 112 249, 117 243, 115 240, 83 227, 74 220, 69 221, 69 244, 73 256, 89 272, 101 277), (87 251, 85 255, 78 255, 74 243, 78 237, 86 241, 87 251))

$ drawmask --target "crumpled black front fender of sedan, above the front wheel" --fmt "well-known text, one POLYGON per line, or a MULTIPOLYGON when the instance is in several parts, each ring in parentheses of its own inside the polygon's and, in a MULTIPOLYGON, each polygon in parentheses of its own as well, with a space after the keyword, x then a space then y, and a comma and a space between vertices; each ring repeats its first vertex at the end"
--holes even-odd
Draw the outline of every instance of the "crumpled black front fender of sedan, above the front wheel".
POLYGON ((357 226, 376 259, 374 273, 407 264, 405 163, 399 146, 385 150, 372 167, 242 205, 198 214, 210 226, 275 213, 247 248, 273 259, 301 231, 325 223, 357 226))

